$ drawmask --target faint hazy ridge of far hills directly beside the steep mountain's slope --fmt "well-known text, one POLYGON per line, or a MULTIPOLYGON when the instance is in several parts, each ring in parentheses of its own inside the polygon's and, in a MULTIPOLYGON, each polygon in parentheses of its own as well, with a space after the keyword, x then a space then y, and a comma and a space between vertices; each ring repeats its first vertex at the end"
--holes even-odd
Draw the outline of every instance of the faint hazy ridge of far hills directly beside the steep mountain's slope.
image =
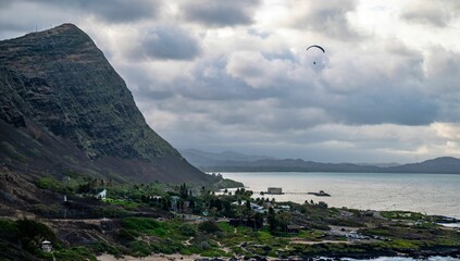
POLYGON ((234 151, 223 151, 219 153, 206 152, 197 149, 179 149, 187 161, 196 166, 216 166, 225 164, 228 161, 249 162, 259 160, 275 160, 269 156, 249 156, 234 151))

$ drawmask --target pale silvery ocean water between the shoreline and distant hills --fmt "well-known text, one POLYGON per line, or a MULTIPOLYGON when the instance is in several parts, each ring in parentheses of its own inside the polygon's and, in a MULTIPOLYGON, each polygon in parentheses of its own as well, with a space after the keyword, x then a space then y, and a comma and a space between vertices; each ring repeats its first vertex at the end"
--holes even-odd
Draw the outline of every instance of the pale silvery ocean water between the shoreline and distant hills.
MULTIPOLYGON (((324 190, 313 195, 265 195, 276 201, 324 201, 330 207, 362 210, 407 210, 460 219, 460 175, 408 173, 221 173, 254 192, 282 187, 284 192, 324 190)), ((254 195, 254 197, 263 197, 254 195)))

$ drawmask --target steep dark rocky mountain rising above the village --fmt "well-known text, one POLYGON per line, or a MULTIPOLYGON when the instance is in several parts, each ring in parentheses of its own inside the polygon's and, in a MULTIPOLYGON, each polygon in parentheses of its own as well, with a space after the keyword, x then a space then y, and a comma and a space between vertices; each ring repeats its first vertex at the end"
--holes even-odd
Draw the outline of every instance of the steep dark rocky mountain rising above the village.
POLYGON ((0 41, 0 163, 28 175, 209 178, 147 125, 125 82, 72 24, 0 41))

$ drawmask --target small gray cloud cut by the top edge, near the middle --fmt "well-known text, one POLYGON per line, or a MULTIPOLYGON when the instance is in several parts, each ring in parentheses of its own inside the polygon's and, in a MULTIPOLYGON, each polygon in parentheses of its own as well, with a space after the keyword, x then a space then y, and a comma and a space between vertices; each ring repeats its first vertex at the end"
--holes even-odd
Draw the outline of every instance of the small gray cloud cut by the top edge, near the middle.
POLYGON ((183 4, 184 17, 206 26, 222 27, 252 23, 253 11, 259 0, 204 0, 187 1, 183 4))

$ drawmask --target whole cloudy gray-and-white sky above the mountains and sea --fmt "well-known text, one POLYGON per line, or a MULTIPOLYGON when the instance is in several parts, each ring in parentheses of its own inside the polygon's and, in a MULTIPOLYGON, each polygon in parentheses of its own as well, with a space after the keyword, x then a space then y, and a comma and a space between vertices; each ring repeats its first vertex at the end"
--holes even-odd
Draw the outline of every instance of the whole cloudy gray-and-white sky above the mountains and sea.
POLYGON ((62 23, 96 41, 176 148, 460 157, 458 0, 0 1, 1 39, 62 23))

